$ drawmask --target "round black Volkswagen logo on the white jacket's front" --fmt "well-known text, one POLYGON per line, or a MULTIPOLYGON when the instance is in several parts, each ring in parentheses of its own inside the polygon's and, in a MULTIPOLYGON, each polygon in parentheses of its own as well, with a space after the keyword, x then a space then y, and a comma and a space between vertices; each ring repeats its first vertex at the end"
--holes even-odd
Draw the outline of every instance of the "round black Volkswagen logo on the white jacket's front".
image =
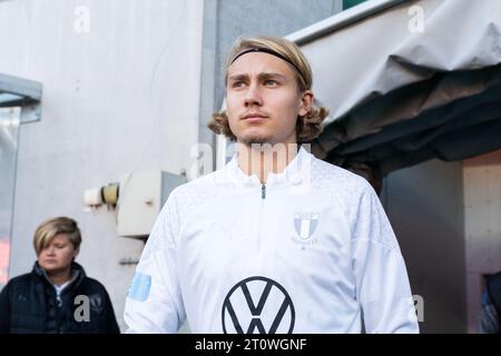
POLYGON ((227 294, 222 310, 225 334, 291 334, 295 312, 284 287, 266 277, 249 277, 227 294))

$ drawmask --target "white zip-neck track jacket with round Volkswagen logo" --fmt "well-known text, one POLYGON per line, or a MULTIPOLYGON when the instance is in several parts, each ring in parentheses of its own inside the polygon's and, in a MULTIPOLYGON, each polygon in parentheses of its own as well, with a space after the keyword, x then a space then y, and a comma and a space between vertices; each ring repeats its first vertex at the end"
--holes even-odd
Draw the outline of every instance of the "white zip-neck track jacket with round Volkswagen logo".
POLYGON ((405 264, 362 177, 304 148, 266 185, 236 157, 176 188, 126 300, 128 333, 418 333, 405 264))

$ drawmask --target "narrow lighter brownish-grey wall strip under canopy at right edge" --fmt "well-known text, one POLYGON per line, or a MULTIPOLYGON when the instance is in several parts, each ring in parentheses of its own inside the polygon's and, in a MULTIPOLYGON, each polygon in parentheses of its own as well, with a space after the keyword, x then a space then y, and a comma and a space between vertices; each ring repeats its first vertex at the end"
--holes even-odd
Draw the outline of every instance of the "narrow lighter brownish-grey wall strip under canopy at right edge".
POLYGON ((501 270, 501 150, 464 160, 468 330, 479 318, 484 275, 501 270))

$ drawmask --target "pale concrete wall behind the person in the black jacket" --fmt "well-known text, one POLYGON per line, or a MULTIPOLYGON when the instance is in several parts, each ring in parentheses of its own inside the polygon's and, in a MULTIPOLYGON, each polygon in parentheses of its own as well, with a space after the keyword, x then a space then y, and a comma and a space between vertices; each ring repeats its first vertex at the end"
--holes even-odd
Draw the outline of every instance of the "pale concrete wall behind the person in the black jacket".
POLYGON ((144 243, 116 215, 85 211, 86 188, 134 170, 188 169, 198 141, 202 0, 0 2, 0 72, 43 83, 42 119, 22 125, 10 276, 30 270, 46 218, 76 218, 77 261, 111 295, 121 327, 144 243), (87 22, 88 19, 88 22, 87 22))

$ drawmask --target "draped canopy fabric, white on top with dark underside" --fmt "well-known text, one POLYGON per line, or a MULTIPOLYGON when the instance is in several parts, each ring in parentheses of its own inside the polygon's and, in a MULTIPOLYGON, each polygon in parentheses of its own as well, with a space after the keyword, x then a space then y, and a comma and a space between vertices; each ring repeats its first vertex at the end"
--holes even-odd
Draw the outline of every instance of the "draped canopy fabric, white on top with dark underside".
POLYGON ((317 157, 384 176, 501 148, 501 1, 399 2, 301 47, 331 110, 317 157))

